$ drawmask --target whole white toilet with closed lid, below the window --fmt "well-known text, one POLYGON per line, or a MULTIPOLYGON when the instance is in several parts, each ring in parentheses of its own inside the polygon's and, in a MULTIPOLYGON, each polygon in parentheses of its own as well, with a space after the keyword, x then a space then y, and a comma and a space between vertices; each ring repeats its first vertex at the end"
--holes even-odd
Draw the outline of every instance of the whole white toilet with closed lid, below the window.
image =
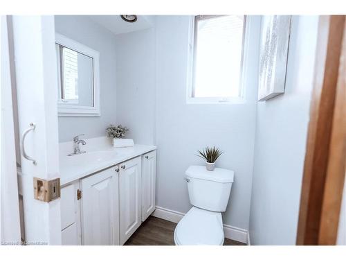
POLYGON ((223 245, 221 212, 226 211, 234 172, 223 168, 207 171, 190 166, 185 172, 192 208, 174 230, 176 245, 223 245))

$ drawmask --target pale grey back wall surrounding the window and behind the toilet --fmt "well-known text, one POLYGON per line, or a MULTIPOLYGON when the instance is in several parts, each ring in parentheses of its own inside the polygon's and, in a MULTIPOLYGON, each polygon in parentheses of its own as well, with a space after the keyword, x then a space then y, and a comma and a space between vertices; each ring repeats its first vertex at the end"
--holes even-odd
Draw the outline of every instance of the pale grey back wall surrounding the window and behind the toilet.
POLYGON ((260 17, 251 22, 246 103, 186 104, 188 16, 156 18, 156 204, 187 212, 191 205, 183 180, 192 164, 203 164, 197 149, 218 146, 225 153, 217 166, 235 171, 224 224, 248 229, 253 171, 260 17))

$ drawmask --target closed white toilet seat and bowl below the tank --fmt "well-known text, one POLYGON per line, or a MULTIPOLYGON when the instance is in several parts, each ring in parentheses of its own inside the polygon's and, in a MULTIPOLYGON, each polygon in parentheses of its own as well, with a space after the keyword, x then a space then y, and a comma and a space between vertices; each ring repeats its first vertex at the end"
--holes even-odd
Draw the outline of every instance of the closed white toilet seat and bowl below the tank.
POLYGON ((176 245, 223 245, 221 213, 192 207, 176 225, 174 242, 176 245))

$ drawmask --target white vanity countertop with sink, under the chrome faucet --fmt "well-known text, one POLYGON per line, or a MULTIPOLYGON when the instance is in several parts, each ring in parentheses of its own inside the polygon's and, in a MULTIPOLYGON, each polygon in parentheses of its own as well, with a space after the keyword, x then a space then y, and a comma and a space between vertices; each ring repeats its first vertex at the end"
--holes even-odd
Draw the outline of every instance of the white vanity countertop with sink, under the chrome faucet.
MULTIPOLYGON (((90 139, 89 139, 90 140, 90 139)), ((85 140, 88 144, 89 140, 85 140)), ((128 159, 156 150, 156 146, 135 144, 134 147, 113 148, 111 145, 95 146, 85 149, 81 155, 67 156, 66 147, 71 148, 70 142, 60 144, 60 184, 64 185, 91 175, 104 168, 125 162, 128 159)), ((92 143, 92 141, 91 141, 92 143)), ((94 142, 95 143, 95 142, 94 142)), ((84 146, 80 146, 83 150, 84 146)), ((71 153, 71 151, 70 151, 71 153)))

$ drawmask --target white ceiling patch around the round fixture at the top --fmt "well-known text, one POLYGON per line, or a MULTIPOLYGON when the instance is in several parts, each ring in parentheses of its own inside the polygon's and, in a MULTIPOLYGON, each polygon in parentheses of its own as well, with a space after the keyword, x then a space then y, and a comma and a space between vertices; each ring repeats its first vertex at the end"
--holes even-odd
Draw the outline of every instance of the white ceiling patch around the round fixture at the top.
POLYGON ((114 34, 130 33, 154 26, 154 17, 149 15, 138 15, 134 23, 122 20, 120 15, 89 15, 89 17, 114 34))

